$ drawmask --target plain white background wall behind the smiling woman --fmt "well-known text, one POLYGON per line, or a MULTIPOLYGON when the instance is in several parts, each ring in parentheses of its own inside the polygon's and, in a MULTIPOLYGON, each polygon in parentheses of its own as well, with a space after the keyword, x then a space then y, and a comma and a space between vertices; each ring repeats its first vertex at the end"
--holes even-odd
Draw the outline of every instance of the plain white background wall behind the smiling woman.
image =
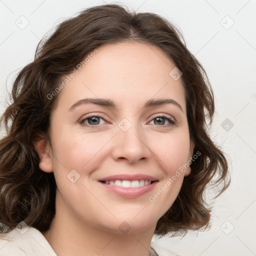
MULTIPOLYGON (((13 77, 33 60, 39 39, 64 18, 103 3, 0 0, 1 113, 13 77), (24 29, 15 23, 21 15, 29 21, 24 29)), ((215 93, 216 114, 211 136, 229 155, 231 185, 213 204, 211 229, 189 232, 183 239, 156 238, 157 243, 186 256, 256 255, 256 0, 122 3, 140 12, 160 14, 182 31, 188 49, 206 69, 215 93), (227 126, 221 126, 226 118, 233 123, 233 127, 228 124, 228 130, 224 129, 227 126)))

